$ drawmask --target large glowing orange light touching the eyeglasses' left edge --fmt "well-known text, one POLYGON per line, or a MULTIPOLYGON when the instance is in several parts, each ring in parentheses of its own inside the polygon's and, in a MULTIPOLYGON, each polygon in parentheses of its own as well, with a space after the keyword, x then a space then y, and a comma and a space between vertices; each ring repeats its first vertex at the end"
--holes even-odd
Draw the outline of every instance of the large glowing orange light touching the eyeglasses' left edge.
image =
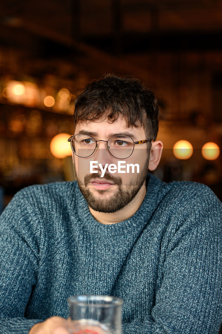
POLYGON ((70 135, 68 133, 59 133, 52 138, 50 143, 50 150, 52 155, 56 158, 65 158, 68 155, 72 155, 72 149, 68 138, 70 135))

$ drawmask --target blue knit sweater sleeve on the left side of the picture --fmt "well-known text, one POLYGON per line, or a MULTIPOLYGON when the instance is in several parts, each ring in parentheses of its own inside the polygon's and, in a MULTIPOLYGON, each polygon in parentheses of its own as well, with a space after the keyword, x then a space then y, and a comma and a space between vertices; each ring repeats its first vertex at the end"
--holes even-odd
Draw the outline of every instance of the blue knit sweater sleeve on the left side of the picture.
POLYGON ((0 216, 0 333, 27 334, 43 320, 26 319, 25 309, 36 284, 38 243, 32 205, 17 193, 0 216))

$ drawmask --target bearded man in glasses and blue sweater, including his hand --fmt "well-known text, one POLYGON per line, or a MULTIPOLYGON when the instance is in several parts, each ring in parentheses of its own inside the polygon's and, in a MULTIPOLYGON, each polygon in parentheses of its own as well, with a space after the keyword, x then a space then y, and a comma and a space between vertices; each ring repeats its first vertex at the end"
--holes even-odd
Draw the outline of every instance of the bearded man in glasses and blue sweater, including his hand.
POLYGON ((137 79, 80 92, 77 181, 24 188, 1 215, 1 333, 72 333, 78 294, 122 298, 123 334, 218 333, 222 203, 203 184, 147 174, 163 149, 158 115, 137 79))

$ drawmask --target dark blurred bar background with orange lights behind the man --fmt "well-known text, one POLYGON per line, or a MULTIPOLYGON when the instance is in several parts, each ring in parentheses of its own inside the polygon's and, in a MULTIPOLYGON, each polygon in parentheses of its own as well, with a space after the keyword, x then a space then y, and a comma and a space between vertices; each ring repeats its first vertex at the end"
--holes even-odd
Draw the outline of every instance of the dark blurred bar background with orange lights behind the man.
POLYGON ((73 104, 104 73, 135 75, 158 98, 152 173, 222 200, 221 1, 2 0, 0 31, 0 212, 25 186, 74 179, 73 104))

